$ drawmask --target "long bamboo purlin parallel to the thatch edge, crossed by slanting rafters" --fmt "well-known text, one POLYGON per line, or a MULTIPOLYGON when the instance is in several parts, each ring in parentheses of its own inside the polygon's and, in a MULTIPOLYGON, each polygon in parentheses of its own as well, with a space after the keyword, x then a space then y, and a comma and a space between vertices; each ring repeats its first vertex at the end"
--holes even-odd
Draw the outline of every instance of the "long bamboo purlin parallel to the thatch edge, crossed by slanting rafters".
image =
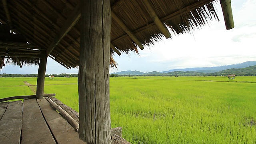
MULTIPOLYGON (((176 11, 176 12, 174 12, 174 13, 168 15, 168 16, 165 16, 164 18, 160 18, 160 21, 167 22, 169 20, 177 18, 178 16, 181 16, 182 14, 186 14, 186 13, 192 11, 192 10, 195 10, 198 7, 204 6, 205 4, 209 4, 210 2, 213 2, 213 1, 214 0, 200 0, 196 3, 194 3, 194 4, 191 4, 189 6, 186 6, 186 7, 182 8, 182 9, 180 9, 180 10, 178 10, 178 11, 176 11)), ((150 28, 152 26, 155 26, 155 25, 156 25, 156 23, 152 22, 150 24, 142 26, 141 28, 138 28, 137 30, 134 30, 134 33, 136 34, 136 33, 143 32, 145 30, 148 30, 148 28, 150 28)), ((119 38, 116 38, 115 40, 112 40, 111 43, 115 43, 119 40, 122 40, 123 38, 128 37, 128 36, 129 36, 128 34, 120 36, 119 38)))

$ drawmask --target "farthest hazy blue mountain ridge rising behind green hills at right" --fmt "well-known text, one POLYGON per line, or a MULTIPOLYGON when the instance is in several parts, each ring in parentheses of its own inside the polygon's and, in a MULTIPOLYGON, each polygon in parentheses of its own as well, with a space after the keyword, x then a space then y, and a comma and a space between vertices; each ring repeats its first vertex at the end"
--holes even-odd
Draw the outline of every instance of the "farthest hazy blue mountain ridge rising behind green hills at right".
POLYGON ((231 64, 226 66, 214 66, 214 67, 202 67, 202 68, 184 68, 184 69, 173 69, 164 71, 161 73, 167 73, 167 72, 175 72, 175 71, 198 71, 198 72, 204 72, 204 73, 213 73, 213 72, 219 72, 221 70, 227 70, 230 68, 246 68, 248 66, 255 66, 256 62, 243 62, 241 64, 231 64))

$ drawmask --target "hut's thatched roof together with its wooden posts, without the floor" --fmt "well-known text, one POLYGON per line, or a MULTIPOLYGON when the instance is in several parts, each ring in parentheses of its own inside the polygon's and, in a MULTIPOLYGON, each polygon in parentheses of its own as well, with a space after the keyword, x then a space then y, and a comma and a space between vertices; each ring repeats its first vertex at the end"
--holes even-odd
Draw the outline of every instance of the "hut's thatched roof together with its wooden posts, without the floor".
MULTIPOLYGON (((79 66, 79 137, 111 144, 109 65, 116 66, 114 52, 138 53, 137 47, 143 50, 163 37, 218 20, 214 1, 2 0, 0 68, 5 63, 39 64, 36 98, 40 99, 48 56, 68 69, 79 66)), ((230 0, 220 2, 230 29, 230 0)))

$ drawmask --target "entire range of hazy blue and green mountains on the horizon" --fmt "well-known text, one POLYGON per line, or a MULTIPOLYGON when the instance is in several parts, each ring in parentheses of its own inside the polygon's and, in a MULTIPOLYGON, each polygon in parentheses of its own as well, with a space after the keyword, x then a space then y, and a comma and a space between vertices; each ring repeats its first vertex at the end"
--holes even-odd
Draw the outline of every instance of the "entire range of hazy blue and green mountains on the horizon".
MULTIPOLYGON (((188 75, 191 75, 191 74, 198 74, 198 75, 202 75, 202 74, 222 74, 222 73, 232 73, 232 72, 242 72, 244 69, 242 68, 247 68, 247 67, 250 67, 250 66, 255 66, 256 65, 256 61, 254 62, 243 62, 243 63, 240 63, 240 64, 232 64, 232 65, 226 65, 226 66, 214 66, 214 67, 202 67, 202 68, 184 68, 184 69, 173 69, 173 70, 168 70, 168 71, 164 71, 164 72, 156 72, 156 71, 153 71, 153 72, 140 72, 140 71, 131 71, 131 70, 128 70, 128 71, 121 71, 121 72, 113 72, 112 74, 118 74, 118 75, 178 75, 178 74, 181 74, 181 73, 186 73, 188 75), (241 69, 241 70, 238 70, 236 71, 237 69, 241 69), (227 70, 227 71, 224 71, 224 70, 227 70), (224 72, 222 72, 224 71, 224 72)), ((254 72, 254 74, 256 74, 255 71, 253 70, 256 70, 254 68, 250 69, 252 70, 251 72, 254 72)))

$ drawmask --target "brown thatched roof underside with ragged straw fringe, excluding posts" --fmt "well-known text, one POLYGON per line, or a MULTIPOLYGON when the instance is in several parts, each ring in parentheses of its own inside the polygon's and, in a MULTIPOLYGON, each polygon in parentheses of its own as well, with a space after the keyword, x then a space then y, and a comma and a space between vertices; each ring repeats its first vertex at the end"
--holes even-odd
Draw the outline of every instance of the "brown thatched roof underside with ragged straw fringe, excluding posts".
MULTIPOLYGON (((190 32, 209 20, 218 20, 213 1, 110 0, 111 65, 116 64, 113 54, 138 53, 137 48, 190 32)), ((2 0, 1 25, 8 24, 11 31, 22 35, 18 36, 21 40, 12 39, 10 35, 15 34, 10 34, 6 26, 0 26, 0 56, 14 64, 38 64, 40 50, 47 50, 51 58, 66 68, 78 66, 79 8, 79 0, 2 0), (22 41, 24 38, 29 44, 22 41)))

